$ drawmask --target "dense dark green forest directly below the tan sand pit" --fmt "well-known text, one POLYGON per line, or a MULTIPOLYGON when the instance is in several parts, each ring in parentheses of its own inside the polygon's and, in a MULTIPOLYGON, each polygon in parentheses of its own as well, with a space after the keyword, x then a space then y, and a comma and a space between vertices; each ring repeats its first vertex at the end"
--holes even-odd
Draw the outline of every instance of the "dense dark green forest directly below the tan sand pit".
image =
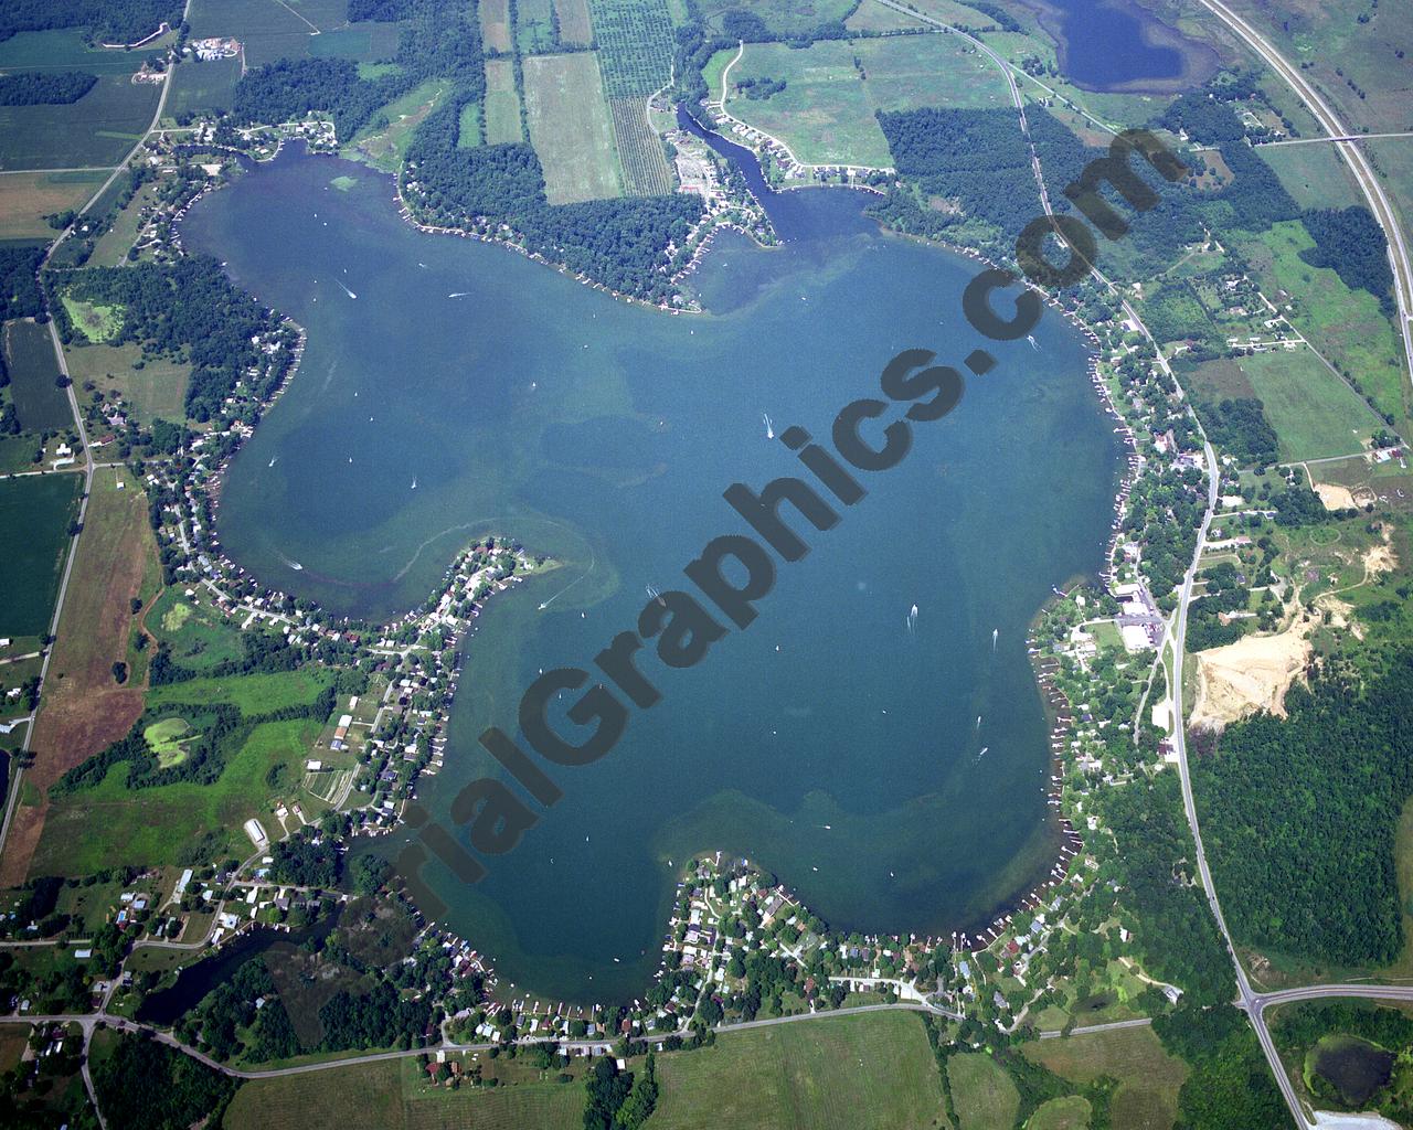
POLYGON ((1413 651, 1286 695, 1287 718, 1234 723, 1193 764, 1212 874, 1245 944, 1340 965, 1403 948, 1393 840, 1413 792, 1413 651))

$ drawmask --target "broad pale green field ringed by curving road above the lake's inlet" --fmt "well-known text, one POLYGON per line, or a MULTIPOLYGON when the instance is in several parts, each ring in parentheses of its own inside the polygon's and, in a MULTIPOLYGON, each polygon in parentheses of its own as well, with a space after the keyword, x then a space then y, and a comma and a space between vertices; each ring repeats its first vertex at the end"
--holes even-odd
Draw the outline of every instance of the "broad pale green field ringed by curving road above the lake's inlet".
POLYGON ((1000 71, 955 35, 828 40, 804 51, 747 44, 728 82, 726 109, 735 117, 812 165, 892 165, 877 110, 1009 105, 1000 71), (783 81, 786 89, 750 99, 736 92, 749 79, 783 81))

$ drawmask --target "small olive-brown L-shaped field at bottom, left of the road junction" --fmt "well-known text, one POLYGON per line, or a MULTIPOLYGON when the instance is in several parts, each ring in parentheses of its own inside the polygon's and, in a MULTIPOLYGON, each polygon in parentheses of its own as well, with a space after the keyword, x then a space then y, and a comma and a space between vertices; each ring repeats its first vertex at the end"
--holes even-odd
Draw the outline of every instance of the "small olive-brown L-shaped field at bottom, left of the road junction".
POLYGON ((1101 1075, 1118 1079, 1113 1130, 1167 1130, 1177 1120, 1177 1092, 1187 1065, 1164 1051, 1150 1027, 1040 1040, 1027 1044, 1024 1054, 1075 1083, 1091 1083, 1101 1075))

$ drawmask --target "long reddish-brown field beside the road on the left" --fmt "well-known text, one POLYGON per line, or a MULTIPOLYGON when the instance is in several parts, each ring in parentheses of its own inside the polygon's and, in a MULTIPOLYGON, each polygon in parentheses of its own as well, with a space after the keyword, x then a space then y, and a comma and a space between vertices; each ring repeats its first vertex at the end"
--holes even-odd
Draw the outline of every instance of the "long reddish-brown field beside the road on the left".
POLYGON ((0 860, 0 884, 24 880, 44 828, 44 790, 127 733, 141 713, 141 691, 131 684, 119 685, 112 665, 127 655, 130 602, 141 590, 147 562, 155 554, 147 497, 131 473, 126 468, 95 472, 34 727, 38 756, 25 783, 37 792, 34 802, 21 801, 16 809, 0 860))

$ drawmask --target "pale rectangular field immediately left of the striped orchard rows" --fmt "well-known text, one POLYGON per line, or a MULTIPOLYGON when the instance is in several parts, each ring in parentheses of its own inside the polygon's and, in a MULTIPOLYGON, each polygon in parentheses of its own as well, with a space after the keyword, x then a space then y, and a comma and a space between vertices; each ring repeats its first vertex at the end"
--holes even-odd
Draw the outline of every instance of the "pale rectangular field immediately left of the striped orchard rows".
POLYGON ((592 51, 531 55, 524 82, 530 141, 544 165, 550 203, 622 195, 598 56, 592 51))

